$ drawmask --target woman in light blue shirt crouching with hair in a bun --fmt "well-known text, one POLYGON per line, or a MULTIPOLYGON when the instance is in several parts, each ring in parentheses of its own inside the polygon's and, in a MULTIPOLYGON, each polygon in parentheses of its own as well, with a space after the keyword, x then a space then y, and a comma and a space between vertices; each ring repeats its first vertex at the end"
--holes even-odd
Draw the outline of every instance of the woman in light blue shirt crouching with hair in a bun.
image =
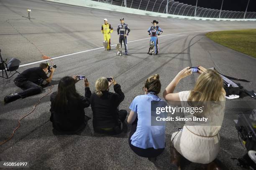
POLYGON ((161 90, 159 75, 148 77, 143 90, 145 95, 135 97, 130 106, 129 145, 137 155, 154 160, 165 148, 165 126, 151 126, 151 101, 161 101, 157 96, 161 90))

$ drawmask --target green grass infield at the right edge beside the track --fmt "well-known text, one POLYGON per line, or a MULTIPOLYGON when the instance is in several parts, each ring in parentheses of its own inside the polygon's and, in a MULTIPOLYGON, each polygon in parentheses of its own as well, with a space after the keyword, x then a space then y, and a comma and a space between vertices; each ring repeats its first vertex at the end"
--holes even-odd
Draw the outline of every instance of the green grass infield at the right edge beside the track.
POLYGON ((256 58, 256 29, 215 31, 206 34, 211 40, 256 58))

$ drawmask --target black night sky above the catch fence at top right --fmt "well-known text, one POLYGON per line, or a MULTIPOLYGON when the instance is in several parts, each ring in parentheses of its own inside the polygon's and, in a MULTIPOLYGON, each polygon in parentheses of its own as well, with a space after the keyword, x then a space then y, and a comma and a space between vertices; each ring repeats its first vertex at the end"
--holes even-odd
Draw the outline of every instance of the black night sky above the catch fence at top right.
MULTIPOLYGON (((184 4, 195 5, 196 0, 175 0, 184 4)), ((220 10, 222 0, 198 0, 197 6, 220 10)), ((248 0, 224 0, 222 10, 245 11, 248 0)), ((249 12, 256 12, 256 0, 250 0, 249 12)))

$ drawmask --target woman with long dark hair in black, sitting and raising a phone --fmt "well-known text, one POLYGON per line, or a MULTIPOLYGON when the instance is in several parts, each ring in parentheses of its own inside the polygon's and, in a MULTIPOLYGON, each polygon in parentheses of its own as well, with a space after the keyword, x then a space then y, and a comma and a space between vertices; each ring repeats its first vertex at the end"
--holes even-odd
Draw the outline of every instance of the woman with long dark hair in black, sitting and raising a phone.
POLYGON ((77 77, 74 75, 61 78, 58 91, 51 94, 50 120, 53 128, 59 132, 77 133, 87 124, 88 117, 85 116, 84 108, 90 106, 92 93, 87 79, 84 79, 84 97, 77 93, 77 77))

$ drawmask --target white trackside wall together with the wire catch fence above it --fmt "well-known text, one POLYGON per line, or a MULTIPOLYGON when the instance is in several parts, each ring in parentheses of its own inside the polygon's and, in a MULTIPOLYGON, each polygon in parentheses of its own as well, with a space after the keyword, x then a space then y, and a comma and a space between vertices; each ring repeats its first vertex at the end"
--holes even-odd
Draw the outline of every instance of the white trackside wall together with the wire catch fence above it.
POLYGON ((256 12, 195 7, 174 0, 46 0, 121 13, 189 20, 256 21, 256 12), (102 3, 103 2, 103 3, 102 3))

